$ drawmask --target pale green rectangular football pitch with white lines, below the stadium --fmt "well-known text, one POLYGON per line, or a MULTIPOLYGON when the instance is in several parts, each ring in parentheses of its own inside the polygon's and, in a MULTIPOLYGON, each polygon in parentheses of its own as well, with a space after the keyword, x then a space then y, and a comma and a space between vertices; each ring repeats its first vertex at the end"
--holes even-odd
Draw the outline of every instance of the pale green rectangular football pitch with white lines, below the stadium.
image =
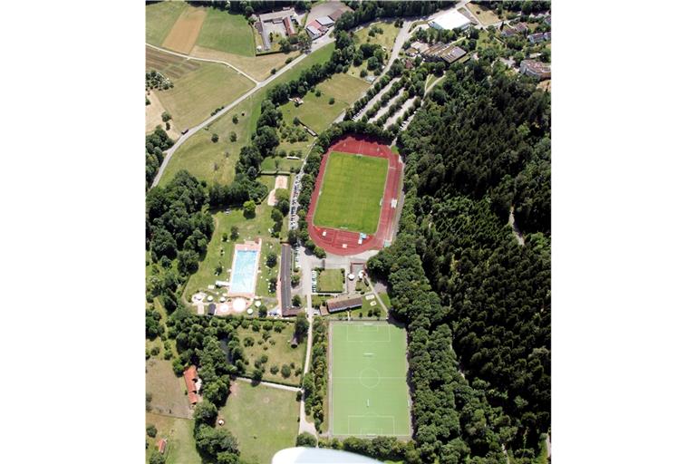
POLYGON ((411 435, 406 332, 386 322, 332 322, 329 432, 411 435))

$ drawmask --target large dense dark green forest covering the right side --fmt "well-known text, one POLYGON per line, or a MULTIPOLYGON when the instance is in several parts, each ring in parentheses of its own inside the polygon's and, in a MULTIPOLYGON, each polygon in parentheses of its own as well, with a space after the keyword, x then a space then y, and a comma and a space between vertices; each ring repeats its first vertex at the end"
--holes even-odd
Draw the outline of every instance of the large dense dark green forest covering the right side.
POLYGON ((400 232, 368 266, 408 324, 420 458, 530 462, 550 427, 550 97, 455 64, 398 144, 400 232))

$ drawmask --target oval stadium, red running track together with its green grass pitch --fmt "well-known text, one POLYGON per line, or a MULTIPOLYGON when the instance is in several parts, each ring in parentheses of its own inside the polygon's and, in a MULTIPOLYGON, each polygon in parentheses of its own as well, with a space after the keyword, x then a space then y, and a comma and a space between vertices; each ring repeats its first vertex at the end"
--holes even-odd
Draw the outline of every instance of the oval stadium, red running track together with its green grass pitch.
POLYGON ((356 136, 333 143, 322 157, 307 228, 314 244, 334 255, 356 255, 390 244, 401 208, 403 164, 377 141, 356 136))

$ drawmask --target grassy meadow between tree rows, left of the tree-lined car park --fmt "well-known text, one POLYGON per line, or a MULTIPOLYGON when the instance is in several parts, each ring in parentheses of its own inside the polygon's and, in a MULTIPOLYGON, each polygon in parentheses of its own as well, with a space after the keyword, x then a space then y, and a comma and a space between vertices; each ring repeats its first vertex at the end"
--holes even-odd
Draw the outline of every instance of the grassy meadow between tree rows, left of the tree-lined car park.
POLYGON ((366 91, 370 84, 350 74, 333 74, 332 77, 316 86, 321 92, 317 97, 314 92, 307 92, 302 97, 304 103, 295 106, 294 102, 282 105, 283 119, 290 123, 295 116, 309 126, 314 132, 321 133, 328 128, 346 108, 353 105, 362 92, 366 91), (333 97, 333 104, 329 100, 333 97))

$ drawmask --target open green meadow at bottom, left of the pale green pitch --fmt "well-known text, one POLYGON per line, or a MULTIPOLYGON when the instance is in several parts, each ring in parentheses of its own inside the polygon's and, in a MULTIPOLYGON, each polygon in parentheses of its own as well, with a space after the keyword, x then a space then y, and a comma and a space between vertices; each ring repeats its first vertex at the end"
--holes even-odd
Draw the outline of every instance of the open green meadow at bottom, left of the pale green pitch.
POLYGON ((295 391, 234 382, 220 415, 239 440, 241 459, 267 463, 275 452, 295 446, 299 409, 295 391))

